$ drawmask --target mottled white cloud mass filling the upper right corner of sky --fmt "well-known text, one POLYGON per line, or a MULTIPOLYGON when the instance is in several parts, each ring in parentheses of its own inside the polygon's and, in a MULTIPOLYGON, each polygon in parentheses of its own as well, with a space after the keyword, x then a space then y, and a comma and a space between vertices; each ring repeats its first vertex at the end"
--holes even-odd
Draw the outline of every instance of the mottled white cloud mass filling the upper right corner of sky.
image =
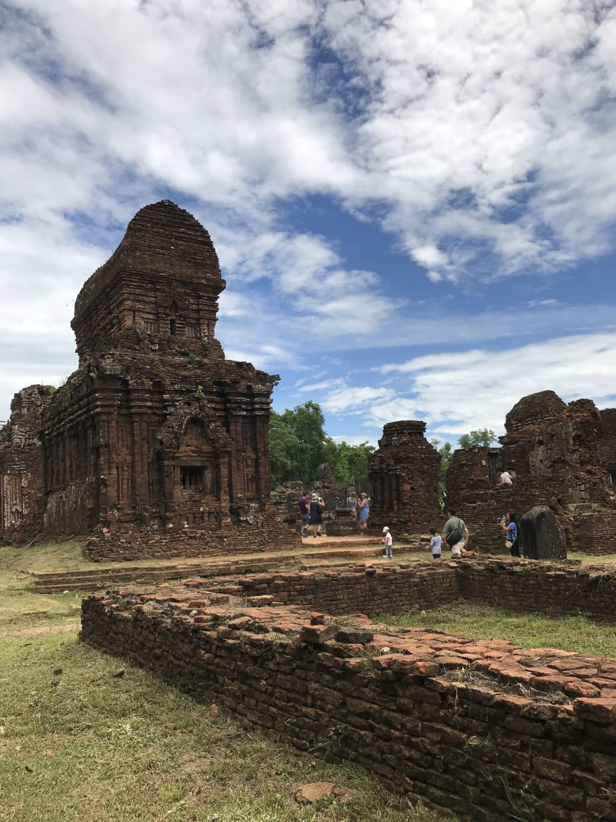
POLYGON ((338 0, 325 25, 368 91, 356 137, 384 225, 430 279, 614 247, 613 4, 338 0))

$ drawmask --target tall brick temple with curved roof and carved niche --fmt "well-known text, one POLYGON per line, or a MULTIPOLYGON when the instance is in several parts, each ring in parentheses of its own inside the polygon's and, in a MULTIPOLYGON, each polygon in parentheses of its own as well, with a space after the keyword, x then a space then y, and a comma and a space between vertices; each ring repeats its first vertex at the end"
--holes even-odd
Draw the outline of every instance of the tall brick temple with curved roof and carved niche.
POLYGON ((225 360, 224 286, 207 231, 162 201, 76 299, 79 368, 43 410, 44 528, 92 534, 91 559, 292 543, 269 501, 278 377, 225 360))

